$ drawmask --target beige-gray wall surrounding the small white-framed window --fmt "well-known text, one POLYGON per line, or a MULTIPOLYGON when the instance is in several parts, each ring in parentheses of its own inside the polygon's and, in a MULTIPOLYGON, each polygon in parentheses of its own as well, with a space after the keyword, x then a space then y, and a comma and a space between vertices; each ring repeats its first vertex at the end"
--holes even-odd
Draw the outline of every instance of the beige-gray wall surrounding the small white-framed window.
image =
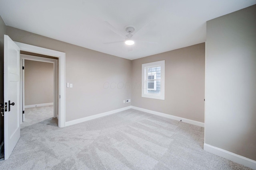
POLYGON ((132 106, 204 122, 205 43, 132 61, 132 106), (141 97, 142 64, 165 60, 165 100, 141 97))

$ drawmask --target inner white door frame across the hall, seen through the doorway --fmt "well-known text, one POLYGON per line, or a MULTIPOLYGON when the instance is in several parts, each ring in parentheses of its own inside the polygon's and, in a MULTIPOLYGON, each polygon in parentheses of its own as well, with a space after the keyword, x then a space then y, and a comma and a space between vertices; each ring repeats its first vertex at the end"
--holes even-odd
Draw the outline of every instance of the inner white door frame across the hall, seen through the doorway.
MULTIPOLYGON (((40 61, 40 62, 45 62, 45 63, 53 63, 53 117, 57 117, 58 118, 58 60, 57 59, 49 59, 49 58, 45 58, 45 57, 37 57, 37 56, 33 56, 33 55, 26 55, 26 54, 20 54, 20 75, 22 75, 20 77, 20 87, 22 87, 22 111, 24 111, 24 70, 22 69, 22 67, 24 66, 23 60, 31 60, 31 61, 40 61)), ((25 67, 26 69, 26 67, 25 67)), ((24 115, 22 114, 22 117, 24 117, 24 115)), ((24 119, 22 119, 22 117, 20 117, 20 123, 22 123, 24 121, 24 119), (22 121, 23 120, 23 121, 22 121)))

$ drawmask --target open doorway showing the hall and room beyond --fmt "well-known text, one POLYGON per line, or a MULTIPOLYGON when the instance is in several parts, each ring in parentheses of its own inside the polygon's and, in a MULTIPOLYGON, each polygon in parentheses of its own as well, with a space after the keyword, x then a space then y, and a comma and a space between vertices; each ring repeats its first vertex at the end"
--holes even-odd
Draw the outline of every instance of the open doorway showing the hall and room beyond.
POLYGON ((58 118, 58 58, 35 55, 20 51, 23 127, 58 118))

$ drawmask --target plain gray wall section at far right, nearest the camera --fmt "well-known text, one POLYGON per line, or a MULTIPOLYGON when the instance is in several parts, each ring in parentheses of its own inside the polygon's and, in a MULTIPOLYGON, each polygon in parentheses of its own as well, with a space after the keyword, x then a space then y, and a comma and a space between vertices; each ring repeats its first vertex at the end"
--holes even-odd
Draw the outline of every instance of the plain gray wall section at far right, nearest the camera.
POLYGON ((205 143, 256 160, 256 5, 207 21, 205 143))

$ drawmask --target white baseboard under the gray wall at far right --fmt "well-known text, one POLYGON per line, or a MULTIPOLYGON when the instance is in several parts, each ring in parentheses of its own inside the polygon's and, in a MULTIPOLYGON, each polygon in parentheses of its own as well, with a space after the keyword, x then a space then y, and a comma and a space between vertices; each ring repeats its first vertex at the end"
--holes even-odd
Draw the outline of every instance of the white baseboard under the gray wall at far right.
POLYGON ((256 170, 256 161, 204 143, 204 150, 256 170))

